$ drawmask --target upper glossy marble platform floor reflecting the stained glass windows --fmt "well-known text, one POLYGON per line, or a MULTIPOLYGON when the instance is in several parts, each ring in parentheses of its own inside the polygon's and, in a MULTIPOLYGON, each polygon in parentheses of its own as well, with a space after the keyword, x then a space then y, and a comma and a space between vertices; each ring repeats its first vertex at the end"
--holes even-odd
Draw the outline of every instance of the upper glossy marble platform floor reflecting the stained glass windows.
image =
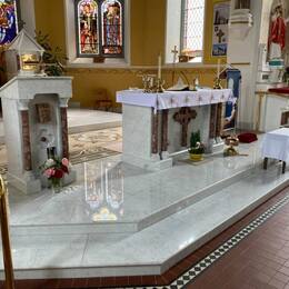
POLYGON ((260 163, 259 146, 240 146, 247 157, 217 155, 200 166, 178 160, 157 172, 123 163, 121 156, 84 162, 74 166, 77 181, 59 195, 46 189, 26 196, 10 187, 12 231, 141 230, 250 175, 260 163))

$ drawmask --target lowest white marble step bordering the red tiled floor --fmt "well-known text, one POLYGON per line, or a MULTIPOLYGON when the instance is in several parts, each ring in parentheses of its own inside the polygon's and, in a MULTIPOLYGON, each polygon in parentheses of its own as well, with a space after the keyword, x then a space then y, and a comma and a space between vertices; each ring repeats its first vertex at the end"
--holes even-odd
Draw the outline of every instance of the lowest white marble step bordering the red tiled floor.
MULTIPOLYGON (((17 278, 158 275, 289 185, 271 166, 133 235, 12 236, 17 278)), ((2 266, 2 265, 1 265, 2 266)), ((3 272, 2 272, 3 276, 3 272)))

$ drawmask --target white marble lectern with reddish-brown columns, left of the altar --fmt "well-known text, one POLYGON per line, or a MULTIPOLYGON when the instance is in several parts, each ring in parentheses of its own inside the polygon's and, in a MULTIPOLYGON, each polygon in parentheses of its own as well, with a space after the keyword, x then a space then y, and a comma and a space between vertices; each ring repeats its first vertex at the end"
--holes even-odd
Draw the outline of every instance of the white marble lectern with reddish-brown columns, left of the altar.
MULTIPOLYGON (((14 77, 0 89, 8 153, 8 181, 26 193, 41 191, 47 179, 39 167, 47 148, 69 158, 67 106, 72 96, 69 77, 14 77)), ((64 178, 72 182, 76 173, 64 178)))

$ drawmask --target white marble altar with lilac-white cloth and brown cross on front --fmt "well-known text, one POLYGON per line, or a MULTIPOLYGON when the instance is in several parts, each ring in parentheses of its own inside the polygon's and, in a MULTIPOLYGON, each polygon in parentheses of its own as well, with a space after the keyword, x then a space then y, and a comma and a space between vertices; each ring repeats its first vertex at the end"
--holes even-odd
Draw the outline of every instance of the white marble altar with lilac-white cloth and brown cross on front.
POLYGON ((230 100, 230 89, 118 91, 123 112, 123 161, 146 169, 169 168, 173 156, 187 151, 190 132, 197 130, 208 153, 221 151, 222 106, 230 100))

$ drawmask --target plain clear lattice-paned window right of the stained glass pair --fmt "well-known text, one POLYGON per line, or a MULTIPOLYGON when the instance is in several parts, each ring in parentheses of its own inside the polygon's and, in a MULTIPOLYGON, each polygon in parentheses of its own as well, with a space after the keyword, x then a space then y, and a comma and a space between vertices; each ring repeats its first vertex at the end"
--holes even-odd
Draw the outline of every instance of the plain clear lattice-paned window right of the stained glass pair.
POLYGON ((182 7, 182 49, 201 51, 205 0, 183 0, 182 7))

